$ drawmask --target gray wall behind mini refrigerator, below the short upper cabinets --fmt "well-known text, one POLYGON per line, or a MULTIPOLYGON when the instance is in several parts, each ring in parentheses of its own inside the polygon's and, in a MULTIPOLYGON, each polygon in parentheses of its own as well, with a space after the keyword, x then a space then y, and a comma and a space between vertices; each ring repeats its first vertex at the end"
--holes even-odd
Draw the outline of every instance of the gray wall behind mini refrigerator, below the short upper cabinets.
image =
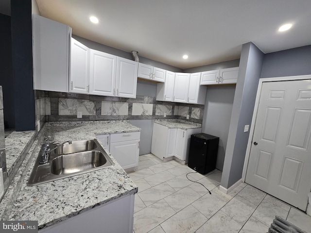
POLYGON ((223 170, 235 85, 207 86, 202 132, 219 137, 216 168, 223 170))

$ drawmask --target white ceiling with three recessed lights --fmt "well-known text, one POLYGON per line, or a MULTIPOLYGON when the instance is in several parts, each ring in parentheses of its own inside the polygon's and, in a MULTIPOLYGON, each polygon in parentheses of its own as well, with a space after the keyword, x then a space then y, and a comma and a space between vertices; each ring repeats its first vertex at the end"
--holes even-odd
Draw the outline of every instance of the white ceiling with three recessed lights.
POLYGON ((311 44, 311 0, 36 1, 73 34, 183 69, 240 58, 250 41, 264 53, 311 44))

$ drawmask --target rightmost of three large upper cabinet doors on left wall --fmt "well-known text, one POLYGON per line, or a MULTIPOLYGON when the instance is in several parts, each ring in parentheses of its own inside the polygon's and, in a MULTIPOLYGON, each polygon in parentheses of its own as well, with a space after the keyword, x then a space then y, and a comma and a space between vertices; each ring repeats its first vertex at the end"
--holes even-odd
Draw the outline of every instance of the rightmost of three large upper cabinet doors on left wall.
POLYGON ((117 58, 116 96, 136 98, 138 63, 117 58))

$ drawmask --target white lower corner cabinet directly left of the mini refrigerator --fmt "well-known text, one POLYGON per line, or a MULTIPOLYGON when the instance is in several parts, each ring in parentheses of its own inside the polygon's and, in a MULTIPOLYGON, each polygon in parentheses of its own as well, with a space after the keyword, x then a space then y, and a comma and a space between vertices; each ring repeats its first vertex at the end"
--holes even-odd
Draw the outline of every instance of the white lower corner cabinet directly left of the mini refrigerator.
POLYGON ((188 163, 191 134, 201 133, 201 131, 202 128, 169 129, 164 125, 154 123, 151 153, 161 160, 174 156, 188 163))

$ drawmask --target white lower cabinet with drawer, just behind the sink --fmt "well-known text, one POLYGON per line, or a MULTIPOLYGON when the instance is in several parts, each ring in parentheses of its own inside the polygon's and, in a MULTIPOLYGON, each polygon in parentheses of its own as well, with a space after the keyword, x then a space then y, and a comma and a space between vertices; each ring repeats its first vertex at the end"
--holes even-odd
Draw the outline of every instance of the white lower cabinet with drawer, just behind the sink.
POLYGON ((140 132, 97 135, 117 162, 126 171, 138 166, 140 132))

